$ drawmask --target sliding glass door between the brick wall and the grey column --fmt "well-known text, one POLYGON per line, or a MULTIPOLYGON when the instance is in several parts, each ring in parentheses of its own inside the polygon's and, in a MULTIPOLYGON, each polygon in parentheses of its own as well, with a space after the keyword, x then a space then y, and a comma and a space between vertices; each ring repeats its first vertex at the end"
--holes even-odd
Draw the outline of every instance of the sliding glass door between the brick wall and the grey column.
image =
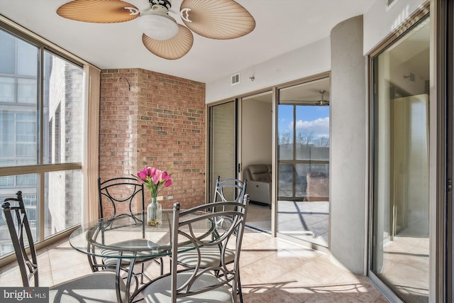
POLYGON ((264 180, 253 180, 252 174, 247 178, 251 202, 246 224, 328 248, 329 96, 329 73, 323 73, 209 106, 207 199, 213 197, 216 177, 244 178, 250 167, 255 175, 257 165, 268 167, 259 173, 270 174, 271 184, 261 187, 253 181, 264 180))

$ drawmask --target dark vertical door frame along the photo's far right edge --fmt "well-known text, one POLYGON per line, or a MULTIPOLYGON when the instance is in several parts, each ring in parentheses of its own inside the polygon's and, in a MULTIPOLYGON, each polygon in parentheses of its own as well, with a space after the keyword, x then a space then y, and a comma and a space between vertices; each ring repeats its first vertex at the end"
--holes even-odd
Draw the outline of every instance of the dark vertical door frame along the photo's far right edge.
POLYGON ((436 111, 437 133, 436 146, 436 248, 432 274, 433 296, 437 302, 453 302, 454 299, 454 3, 453 1, 436 1, 436 21, 433 35, 436 37, 436 79, 434 94, 438 102, 433 106, 436 111), (443 169, 445 167, 445 169, 443 169))

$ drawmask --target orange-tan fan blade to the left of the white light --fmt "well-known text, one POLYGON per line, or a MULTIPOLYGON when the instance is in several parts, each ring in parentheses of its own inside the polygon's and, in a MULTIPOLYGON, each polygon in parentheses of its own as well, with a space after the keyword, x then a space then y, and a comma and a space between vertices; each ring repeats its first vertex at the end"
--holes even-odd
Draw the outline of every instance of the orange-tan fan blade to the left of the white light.
POLYGON ((63 18, 92 23, 118 23, 139 16, 138 9, 121 0, 74 0, 57 9, 63 18))

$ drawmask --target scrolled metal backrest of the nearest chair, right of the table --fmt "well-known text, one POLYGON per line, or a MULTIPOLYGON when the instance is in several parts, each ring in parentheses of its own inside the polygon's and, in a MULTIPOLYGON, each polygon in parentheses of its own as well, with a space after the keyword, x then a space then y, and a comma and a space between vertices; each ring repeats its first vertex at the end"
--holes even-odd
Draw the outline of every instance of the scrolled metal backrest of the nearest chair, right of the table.
MULTIPOLYGON (((179 209, 179 203, 174 204, 174 219, 172 224, 172 302, 176 302, 176 298, 179 297, 208 292, 226 285, 231 285, 233 294, 237 293, 240 248, 248 203, 249 197, 246 194, 239 202, 213 202, 182 211, 179 209), (213 206, 216 209, 223 210, 212 212, 210 208, 213 206), (226 208, 226 206, 233 207, 226 208), (220 218, 226 220, 220 220, 220 218), (197 232, 199 230, 197 226, 208 221, 212 222, 214 230, 212 233, 201 236, 197 232), (224 224, 218 226, 215 224, 218 221, 223 221, 224 224), (213 237, 213 233, 216 236, 213 237), (182 273, 181 270, 177 272, 177 254, 182 242, 190 243, 187 246, 194 247, 193 249, 197 253, 197 262, 192 270, 186 270, 184 282, 179 280, 177 284, 177 275, 181 275, 182 273), (228 267, 224 254, 226 253, 226 248, 232 246, 235 247, 236 255, 233 266, 228 267), (221 262, 209 268, 201 266, 202 258, 204 258, 201 253, 201 248, 203 247, 221 247, 221 262), (206 285, 206 282, 201 281, 205 279, 204 275, 207 275, 209 272, 219 272, 220 275, 218 275, 216 282, 206 285)), ((233 295, 233 302, 236 302, 236 295, 233 295)))

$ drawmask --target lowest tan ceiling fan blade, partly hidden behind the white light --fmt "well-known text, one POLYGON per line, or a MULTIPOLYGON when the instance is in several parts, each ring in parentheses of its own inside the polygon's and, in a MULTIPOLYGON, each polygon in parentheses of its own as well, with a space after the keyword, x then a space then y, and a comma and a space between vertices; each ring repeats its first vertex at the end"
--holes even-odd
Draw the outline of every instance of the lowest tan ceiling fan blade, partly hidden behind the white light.
POLYGON ((151 53, 168 60, 175 60, 183 57, 192 48, 194 43, 194 35, 191 31, 181 24, 178 25, 178 33, 175 37, 169 40, 155 40, 142 35, 142 42, 145 48, 151 53))

